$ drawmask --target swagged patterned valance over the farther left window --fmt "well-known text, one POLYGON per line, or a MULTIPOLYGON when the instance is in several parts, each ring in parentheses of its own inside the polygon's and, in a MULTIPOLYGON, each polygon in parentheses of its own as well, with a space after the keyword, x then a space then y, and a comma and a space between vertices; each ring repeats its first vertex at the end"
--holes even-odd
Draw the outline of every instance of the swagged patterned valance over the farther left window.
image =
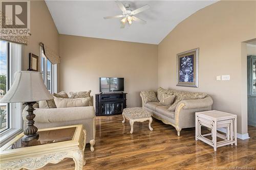
POLYGON ((42 52, 44 53, 45 57, 50 60, 52 64, 60 63, 60 56, 57 55, 51 48, 44 43, 40 42, 39 45, 42 47, 42 52))

